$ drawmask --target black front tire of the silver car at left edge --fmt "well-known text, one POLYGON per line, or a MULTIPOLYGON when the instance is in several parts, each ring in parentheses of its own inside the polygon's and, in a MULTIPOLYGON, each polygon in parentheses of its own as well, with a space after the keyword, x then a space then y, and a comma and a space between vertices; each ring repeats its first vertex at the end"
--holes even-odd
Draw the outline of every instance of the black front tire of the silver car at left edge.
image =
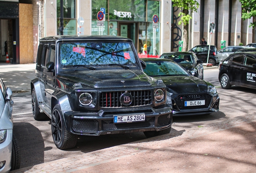
POLYGON ((11 171, 19 169, 21 166, 21 151, 17 138, 12 135, 12 157, 11 157, 11 171))

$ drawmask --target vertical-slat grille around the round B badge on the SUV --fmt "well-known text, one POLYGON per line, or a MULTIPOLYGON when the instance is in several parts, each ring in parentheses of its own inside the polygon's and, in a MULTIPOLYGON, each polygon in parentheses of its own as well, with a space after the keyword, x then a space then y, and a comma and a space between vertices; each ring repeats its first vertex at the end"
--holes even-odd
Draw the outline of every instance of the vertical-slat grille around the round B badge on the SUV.
POLYGON ((103 92, 100 94, 99 105, 100 107, 132 107, 150 105, 152 103, 151 91, 128 91, 132 95, 132 103, 129 106, 124 106, 120 103, 120 96, 125 91, 118 92, 103 92))

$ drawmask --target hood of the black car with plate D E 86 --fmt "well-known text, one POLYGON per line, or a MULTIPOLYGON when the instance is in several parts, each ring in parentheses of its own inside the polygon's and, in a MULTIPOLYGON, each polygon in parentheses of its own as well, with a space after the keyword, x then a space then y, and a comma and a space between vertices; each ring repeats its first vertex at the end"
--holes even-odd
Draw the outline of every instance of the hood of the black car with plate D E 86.
POLYGON ((207 93, 208 86, 204 80, 194 76, 161 76, 167 90, 174 94, 207 93))

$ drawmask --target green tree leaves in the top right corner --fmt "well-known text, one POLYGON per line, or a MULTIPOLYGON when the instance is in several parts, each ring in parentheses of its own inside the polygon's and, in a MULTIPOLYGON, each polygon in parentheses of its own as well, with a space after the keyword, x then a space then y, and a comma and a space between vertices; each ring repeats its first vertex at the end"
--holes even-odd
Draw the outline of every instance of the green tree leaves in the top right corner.
MULTIPOLYGON (((256 16, 256 0, 239 0, 242 4, 242 19, 250 19, 256 16)), ((256 27, 256 22, 251 22, 249 27, 256 27)))

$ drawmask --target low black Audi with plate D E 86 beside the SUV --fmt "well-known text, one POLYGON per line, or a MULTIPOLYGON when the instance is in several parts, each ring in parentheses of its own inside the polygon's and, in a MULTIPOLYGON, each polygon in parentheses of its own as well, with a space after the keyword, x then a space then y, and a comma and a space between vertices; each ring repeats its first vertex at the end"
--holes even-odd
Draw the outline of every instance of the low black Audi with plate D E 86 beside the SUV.
POLYGON ((194 77, 173 60, 143 58, 144 72, 163 80, 167 87, 167 103, 173 116, 206 115, 219 111, 219 95, 210 82, 194 77))

